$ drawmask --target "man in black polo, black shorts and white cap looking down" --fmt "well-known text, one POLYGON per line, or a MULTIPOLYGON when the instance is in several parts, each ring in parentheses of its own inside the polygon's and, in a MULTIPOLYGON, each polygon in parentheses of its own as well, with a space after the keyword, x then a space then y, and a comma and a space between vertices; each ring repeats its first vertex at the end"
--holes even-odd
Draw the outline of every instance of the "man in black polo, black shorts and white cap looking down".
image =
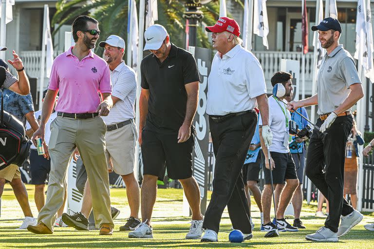
POLYGON ((143 158, 141 188, 142 223, 130 238, 153 238, 150 218, 156 201, 157 178, 178 179, 192 210, 187 239, 202 234, 200 191, 192 176, 194 135, 192 120, 199 99, 199 72, 187 51, 170 43, 166 29, 158 24, 144 33, 151 54, 142 60, 139 144, 143 158))

